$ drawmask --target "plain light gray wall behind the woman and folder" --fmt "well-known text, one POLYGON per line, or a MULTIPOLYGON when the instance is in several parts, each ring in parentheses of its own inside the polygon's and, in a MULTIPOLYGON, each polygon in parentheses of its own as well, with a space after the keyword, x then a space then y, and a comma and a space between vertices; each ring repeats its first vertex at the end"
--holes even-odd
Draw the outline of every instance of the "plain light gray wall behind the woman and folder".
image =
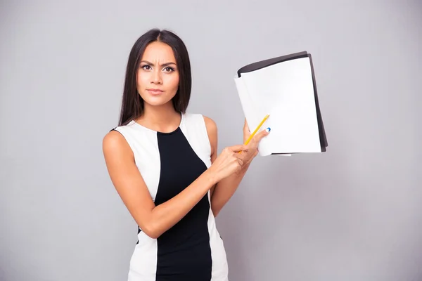
POLYGON ((255 159, 217 217, 231 280, 422 280, 422 3, 339 2, 1 1, 0 280, 127 277, 101 142, 152 27, 186 42, 219 151, 241 143, 236 70, 313 55, 328 152, 255 159))

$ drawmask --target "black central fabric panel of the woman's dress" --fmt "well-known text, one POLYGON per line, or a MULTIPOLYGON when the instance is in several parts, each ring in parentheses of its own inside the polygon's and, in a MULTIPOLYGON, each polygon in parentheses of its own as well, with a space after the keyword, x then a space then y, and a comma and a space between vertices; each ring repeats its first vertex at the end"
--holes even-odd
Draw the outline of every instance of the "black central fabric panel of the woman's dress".
MULTIPOLYGON (((161 169, 156 206, 178 195, 207 169, 180 128, 157 133, 157 138, 161 169)), ((205 195, 179 223, 158 237, 156 280, 211 280, 209 211, 205 195)))

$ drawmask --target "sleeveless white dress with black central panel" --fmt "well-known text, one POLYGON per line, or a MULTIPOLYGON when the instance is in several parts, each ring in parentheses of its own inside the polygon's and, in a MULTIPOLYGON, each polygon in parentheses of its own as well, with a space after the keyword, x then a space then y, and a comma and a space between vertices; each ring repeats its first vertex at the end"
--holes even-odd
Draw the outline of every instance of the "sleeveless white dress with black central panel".
MULTIPOLYGON (((155 206, 176 196, 211 165, 203 115, 181 114, 179 127, 171 133, 153 131, 133 120, 114 130, 132 148, 155 206)), ((158 239, 138 227, 128 281, 164 280, 228 280, 226 251, 215 226, 210 192, 158 239)))

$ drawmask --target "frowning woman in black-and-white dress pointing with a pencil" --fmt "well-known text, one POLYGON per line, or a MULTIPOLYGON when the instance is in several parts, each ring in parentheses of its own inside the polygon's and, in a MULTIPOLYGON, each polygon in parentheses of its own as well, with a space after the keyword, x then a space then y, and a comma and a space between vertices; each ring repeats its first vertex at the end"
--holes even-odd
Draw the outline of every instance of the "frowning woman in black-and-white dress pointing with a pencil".
POLYGON ((129 54, 119 126, 103 139, 110 178, 139 226, 129 281, 228 280, 215 216, 269 129, 217 156, 217 126, 186 113, 190 96, 183 41, 167 30, 143 34, 129 54))

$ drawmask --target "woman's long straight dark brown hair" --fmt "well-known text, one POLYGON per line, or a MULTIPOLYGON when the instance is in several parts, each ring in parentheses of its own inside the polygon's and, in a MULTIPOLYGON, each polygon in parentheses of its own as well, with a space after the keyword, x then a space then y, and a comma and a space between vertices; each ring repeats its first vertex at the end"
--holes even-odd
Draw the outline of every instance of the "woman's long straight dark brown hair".
POLYGON ((172 47, 174 58, 176 58, 179 70, 179 89, 172 99, 174 110, 184 113, 188 107, 189 99, 191 98, 192 77, 191 62, 186 46, 173 32, 155 28, 139 37, 129 53, 126 77, 124 78, 119 126, 124 126, 132 119, 136 119, 143 114, 143 99, 136 89, 136 73, 146 46, 154 41, 160 41, 172 47))

